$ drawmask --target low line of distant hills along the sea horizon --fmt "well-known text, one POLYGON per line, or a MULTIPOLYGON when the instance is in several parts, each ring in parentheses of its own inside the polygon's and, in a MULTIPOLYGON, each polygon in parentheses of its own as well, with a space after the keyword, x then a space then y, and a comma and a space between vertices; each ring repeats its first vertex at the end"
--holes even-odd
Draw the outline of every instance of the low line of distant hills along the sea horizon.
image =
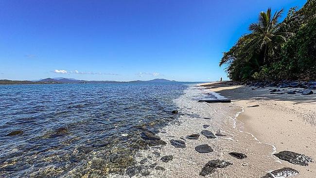
POLYGON ((22 85, 22 84, 114 84, 114 83, 176 83, 175 80, 167 80, 162 78, 156 78, 153 80, 135 80, 135 81, 128 81, 128 82, 120 82, 120 81, 96 81, 96 80, 77 80, 74 78, 45 78, 39 80, 0 80, 0 85, 22 85))

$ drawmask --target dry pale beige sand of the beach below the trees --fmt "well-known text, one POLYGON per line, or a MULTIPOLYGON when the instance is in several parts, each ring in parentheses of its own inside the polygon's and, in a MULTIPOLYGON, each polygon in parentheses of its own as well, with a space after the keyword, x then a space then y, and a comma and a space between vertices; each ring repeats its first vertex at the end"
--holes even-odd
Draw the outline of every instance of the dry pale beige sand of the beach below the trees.
MULTIPOLYGON (((227 82, 200 86, 231 99, 233 105, 244 108, 244 112, 237 116, 237 122, 241 123, 241 132, 253 135, 258 142, 275 146, 275 152, 288 150, 316 159, 315 94, 274 95, 269 93, 269 89, 277 89, 275 87, 251 89, 227 82), (259 106, 251 107, 255 105, 259 106)), ((311 178, 316 174, 315 162, 308 166, 300 166, 273 157, 279 162, 274 166, 297 170, 299 174, 294 176, 295 178, 311 178)), ((275 170, 274 166, 268 165, 267 171, 275 170)))

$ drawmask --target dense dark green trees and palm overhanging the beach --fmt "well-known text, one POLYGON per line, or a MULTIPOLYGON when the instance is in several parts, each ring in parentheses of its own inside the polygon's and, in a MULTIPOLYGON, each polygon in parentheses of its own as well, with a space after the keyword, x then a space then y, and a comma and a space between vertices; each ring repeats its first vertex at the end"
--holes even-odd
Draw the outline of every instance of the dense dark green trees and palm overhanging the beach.
POLYGON ((226 66, 230 79, 316 79, 316 0, 298 11, 291 8, 279 23, 281 13, 261 12, 251 33, 224 53, 219 65, 226 66))

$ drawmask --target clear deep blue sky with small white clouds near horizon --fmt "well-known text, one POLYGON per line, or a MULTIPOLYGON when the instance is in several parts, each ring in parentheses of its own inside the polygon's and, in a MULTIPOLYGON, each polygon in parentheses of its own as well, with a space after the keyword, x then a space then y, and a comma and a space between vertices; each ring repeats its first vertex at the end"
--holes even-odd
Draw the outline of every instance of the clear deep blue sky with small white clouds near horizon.
POLYGON ((258 14, 305 0, 1 0, 0 79, 214 81, 258 14))

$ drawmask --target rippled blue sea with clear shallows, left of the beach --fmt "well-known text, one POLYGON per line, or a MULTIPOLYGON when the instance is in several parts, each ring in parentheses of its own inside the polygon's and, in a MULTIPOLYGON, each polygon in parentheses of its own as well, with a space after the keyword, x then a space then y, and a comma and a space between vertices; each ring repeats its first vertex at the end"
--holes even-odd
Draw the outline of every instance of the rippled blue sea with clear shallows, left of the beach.
POLYGON ((183 84, 0 86, 0 176, 123 174, 140 132, 175 121, 183 84))

